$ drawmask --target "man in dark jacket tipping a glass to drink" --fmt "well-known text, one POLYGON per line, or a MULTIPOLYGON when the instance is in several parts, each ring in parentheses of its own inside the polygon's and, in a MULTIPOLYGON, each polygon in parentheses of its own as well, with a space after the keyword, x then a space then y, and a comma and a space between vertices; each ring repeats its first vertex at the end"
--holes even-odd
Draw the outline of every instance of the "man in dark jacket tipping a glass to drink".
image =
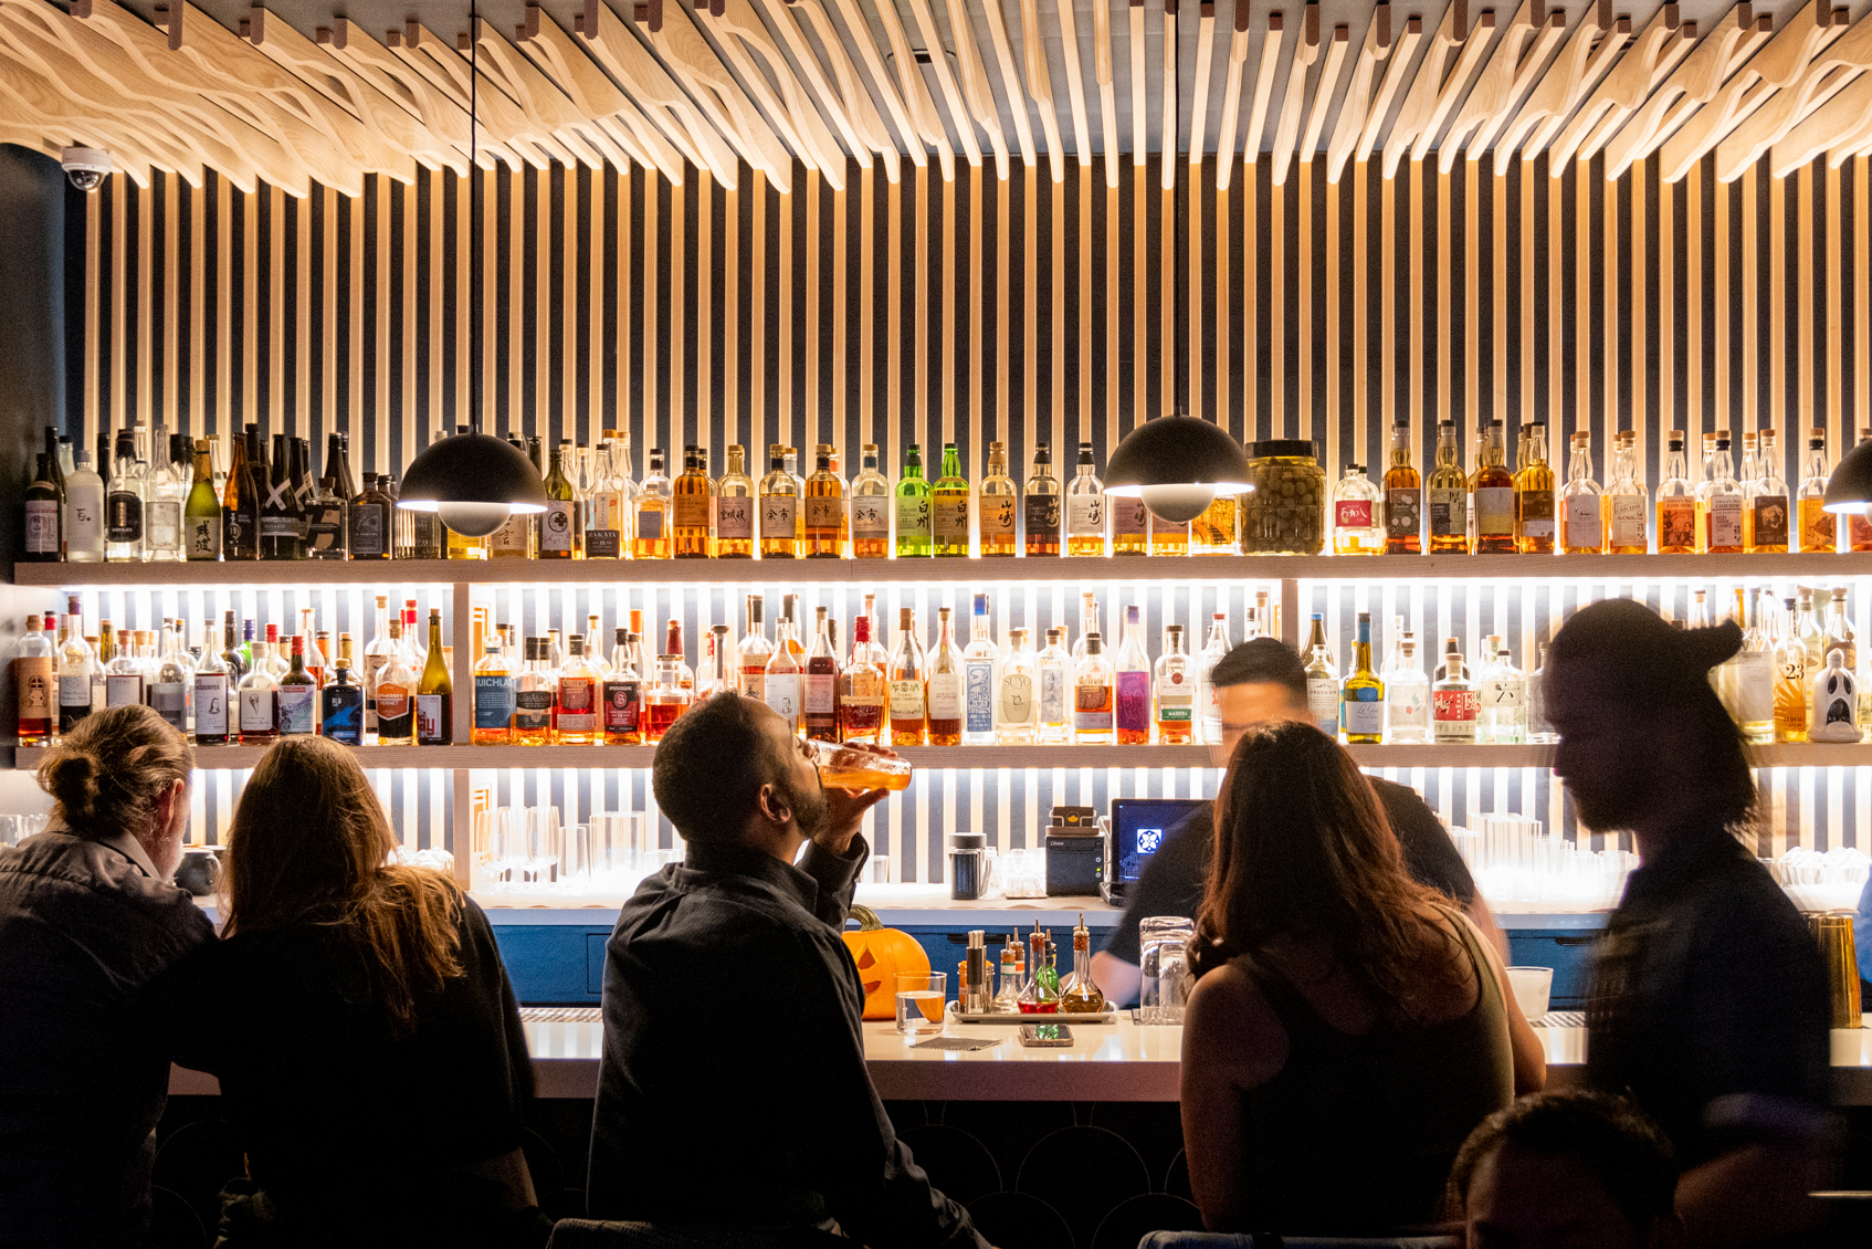
POLYGON ((876 1249, 987 1245, 865 1069, 865 989, 839 929, 884 790, 822 788, 786 721, 736 693, 676 721, 651 786, 689 845, 605 949, 588 1213, 782 1228, 788 1243, 850 1243, 837 1227, 876 1249))

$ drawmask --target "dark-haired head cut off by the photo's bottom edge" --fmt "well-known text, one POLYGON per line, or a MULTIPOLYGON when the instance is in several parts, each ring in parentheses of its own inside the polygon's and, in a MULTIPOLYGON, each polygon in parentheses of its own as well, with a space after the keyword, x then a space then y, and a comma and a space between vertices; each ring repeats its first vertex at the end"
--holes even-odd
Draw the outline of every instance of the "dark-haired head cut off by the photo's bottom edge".
POLYGON ((1670 1140, 1625 1097, 1522 1097, 1470 1133, 1449 1174, 1468 1249, 1677 1249, 1670 1140))

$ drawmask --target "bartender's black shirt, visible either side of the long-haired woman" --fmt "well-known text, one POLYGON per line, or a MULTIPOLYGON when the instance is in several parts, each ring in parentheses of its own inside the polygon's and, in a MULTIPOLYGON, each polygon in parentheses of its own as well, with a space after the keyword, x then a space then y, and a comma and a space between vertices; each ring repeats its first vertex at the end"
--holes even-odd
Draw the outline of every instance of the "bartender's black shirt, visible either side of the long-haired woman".
MULTIPOLYGON (((1378 803, 1385 809, 1391 831, 1404 846, 1404 867, 1421 884, 1441 889, 1464 910, 1475 901, 1475 878, 1470 876, 1456 843, 1449 839, 1443 822, 1425 805, 1417 790, 1367 777, 1378 803)), ((1209 852, 1215 845, 1211 809, 1202 807, 1164 835, 1157 854, 1144 865, 1136 888, 1125 899, 1125 918, 1112 934, 1106 953, 1125 962, 1140 962, 1138 925, 1146 916, 1196 918, 1202 889, 1209 876, 1209 852)))

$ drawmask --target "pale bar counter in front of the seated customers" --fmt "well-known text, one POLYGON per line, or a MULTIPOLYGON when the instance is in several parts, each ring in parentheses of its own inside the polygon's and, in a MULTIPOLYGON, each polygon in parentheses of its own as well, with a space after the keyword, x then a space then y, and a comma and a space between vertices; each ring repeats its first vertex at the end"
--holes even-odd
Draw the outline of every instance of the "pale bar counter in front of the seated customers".
MULTIPOLYGON (((526 1041, 541 1097, 597 1094, 601 1024, 592 1007, 526 1011, 526 1041), (543 1021, 539 1015, 563 1019, 543 1021)), ((1058 1022, 1071 1021, 1054 1017, 1058 1022)), ((915 1051, 891 1021, 867 1022, 865 1062, 885 1101, 1177 1101, 1183 1028, 1073 1026, 1071 1049, 1022 1049, 1013 1024, 949 1022, 943 1036, 1000 1037, 990 1049, 915 1051)), ((1586 1073, 1586 1028, 1535 1028, 1546 1047, 1548 1086, 1578 1084, 1586 1073)), ((168 1092, 213 1095, 219 1084, 174 1067, 168 1092)), ((1833 1030, 1833 1105, 1872 1105, 1872 1028, 1833 1030)))

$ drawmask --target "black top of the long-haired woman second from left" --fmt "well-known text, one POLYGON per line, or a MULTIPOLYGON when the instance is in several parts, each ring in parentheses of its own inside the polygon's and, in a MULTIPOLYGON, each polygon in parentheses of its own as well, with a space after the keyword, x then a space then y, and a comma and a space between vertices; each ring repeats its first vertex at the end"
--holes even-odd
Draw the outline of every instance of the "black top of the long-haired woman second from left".
MULTIPOLYGON (((335 929, 240 933, 154 985, 183 1067, 221 1079, 249 1174, 286 1223, 468 1217, 453 1168, 520 1144, 534 1095, 520 1009, 474 901, 462 974, 393 1036, 376 976, 335 929)), ((414 1243, 414 1242, 412 1242, 414 1243)))

